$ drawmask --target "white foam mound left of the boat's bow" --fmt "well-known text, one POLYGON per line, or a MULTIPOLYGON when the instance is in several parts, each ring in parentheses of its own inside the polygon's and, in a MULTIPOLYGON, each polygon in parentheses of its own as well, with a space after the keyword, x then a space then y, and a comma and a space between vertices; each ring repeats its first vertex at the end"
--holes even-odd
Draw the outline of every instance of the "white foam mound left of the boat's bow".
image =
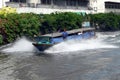
POLYGON ((27 40, 25 37, 16 40, 12 46, 2 50, 2 52, 5 53, 33 52, 33 51, 34 51, 34 46, 32 45, 32 42, 27 40))

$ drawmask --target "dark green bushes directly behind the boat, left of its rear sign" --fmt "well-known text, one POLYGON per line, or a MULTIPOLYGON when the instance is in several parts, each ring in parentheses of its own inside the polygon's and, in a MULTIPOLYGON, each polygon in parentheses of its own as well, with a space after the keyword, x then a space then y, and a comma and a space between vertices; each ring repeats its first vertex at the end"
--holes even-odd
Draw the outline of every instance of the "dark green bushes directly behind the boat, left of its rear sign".
POLYGON ((77 29, 81 28, 83 16, 72 12, 40 14, 42 25, 40 26, 41 34, 56 32, 59 29, 77 29))

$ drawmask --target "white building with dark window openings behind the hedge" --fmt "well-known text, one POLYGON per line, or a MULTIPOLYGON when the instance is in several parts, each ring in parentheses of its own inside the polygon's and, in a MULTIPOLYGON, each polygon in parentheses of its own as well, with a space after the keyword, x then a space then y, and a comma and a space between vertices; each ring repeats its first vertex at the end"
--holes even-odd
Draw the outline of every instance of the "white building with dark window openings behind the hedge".
POLYGON ((112 11, 120 13, 120 0, 8 0, 6 5, 17 8, 19 13, 35 12, 49 14, 56 11, 86 13, 112 11))

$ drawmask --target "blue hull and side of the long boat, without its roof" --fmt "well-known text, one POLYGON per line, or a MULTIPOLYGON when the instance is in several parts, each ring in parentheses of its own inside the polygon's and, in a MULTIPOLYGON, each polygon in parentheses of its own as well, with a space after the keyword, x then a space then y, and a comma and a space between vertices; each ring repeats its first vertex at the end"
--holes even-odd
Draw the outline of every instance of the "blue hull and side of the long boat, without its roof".
POLYGON ((75 34, 70 34, 64 39, 62 36, 59 37, 51 37, 50 42, 48 43, 39 43, 39 41, 33 43, 33 45, 39 50, 39 51, 44 51, 53 45, 63 42, 65 40, 82 40, 82 39, 89 39, 95 37, 95 32, 94 31, 89 31, 89 32, 84 32, 84 33, 75 33, 75 34))

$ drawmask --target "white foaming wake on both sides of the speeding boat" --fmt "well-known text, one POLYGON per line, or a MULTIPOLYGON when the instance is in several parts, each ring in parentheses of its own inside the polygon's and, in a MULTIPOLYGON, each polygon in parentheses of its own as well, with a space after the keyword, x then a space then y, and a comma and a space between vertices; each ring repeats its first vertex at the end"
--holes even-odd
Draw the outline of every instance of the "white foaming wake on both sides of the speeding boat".
MULTIPOLYGON (((97 33, 97 38, 89 40, 71 40, 59 43, 53 47, 45 50, 45 53, 64 53, 64 52, 74 52, 74 51, 84 51, 91 49, 102 49, 102 48, 119 48, 119 46, 113 43, 119 43, 120 39, 118 34, 114 35, 103 35, 97 33)), ((33 54, 37 49, 32 45, 32 42, 23 37, 16 40, 12 45, 3 48, 0 52, 8 54, 33 54)))

